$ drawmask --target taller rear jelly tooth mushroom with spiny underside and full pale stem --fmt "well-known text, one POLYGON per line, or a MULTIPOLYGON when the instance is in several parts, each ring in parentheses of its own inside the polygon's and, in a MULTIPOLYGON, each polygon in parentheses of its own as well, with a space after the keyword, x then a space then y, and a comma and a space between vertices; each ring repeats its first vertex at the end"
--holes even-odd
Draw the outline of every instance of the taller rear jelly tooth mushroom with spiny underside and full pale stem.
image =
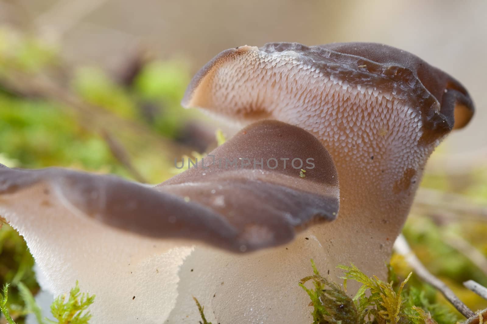
MULTIPOLYGON (((226 50, 196 74, 182 104, 241 123, 300 126, 330 152, 340 181, 337 220, 310 227, 286 249, 222 257, 196 248, 187 257, 181 285, 203 287, 194 294, 205 298, 217 323, 311 323, 303 307, 309 300, 290 279, 309 275, 310 258, 336 280, 336 266, 350 262, 385 279, 428 156, 473 115, 467 91, 449 75, 405 51, 368 43, 226 50)), ((177 305, 183 312, 171 313, 174 323, 192 307, 179 297, 177 305)))

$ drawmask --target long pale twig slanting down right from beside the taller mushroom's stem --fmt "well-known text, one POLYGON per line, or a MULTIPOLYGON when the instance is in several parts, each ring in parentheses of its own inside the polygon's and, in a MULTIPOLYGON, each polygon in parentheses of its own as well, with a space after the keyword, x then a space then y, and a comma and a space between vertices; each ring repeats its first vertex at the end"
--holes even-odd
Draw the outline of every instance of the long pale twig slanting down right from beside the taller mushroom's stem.
POLYGON ((422 280, 439 290, 443 296, 466 318, 474 317, 475 313, 467 307, 456 295, 448 288, 443 281, 431 274, 428 269, 421 263, 417 256, 412 252, 406 238, 401 234, 394 243, 394 251, 403 255, 406 262, 412 267, 422 280))

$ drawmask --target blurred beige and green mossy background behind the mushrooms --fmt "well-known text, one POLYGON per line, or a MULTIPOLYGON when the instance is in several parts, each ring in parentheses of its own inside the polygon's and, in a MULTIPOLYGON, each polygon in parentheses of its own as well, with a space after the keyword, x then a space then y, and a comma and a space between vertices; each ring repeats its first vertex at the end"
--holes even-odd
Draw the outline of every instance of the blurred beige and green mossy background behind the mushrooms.
MULTIPOLYGON (((476 115, 433 154, 405 235, 417 256, 472 309, 487 285, 487 1, 0 0, 0 163, 115 173, 155 184, 174 157, 198 156, 231 130, 179 102, 191 76, 241 45, 380 42, 445 70, 466 86, 476 115)), ((410 271, 399 256, 396 273, 410 271)), ((16 283, 35 295, 33 260, 0 230, 0 284, 18 323, 16 283)), ((417 303, 438 323, 462 317, 417 280, 417 303)), ((0 319, 0 323, 4 320, 0 319)))

